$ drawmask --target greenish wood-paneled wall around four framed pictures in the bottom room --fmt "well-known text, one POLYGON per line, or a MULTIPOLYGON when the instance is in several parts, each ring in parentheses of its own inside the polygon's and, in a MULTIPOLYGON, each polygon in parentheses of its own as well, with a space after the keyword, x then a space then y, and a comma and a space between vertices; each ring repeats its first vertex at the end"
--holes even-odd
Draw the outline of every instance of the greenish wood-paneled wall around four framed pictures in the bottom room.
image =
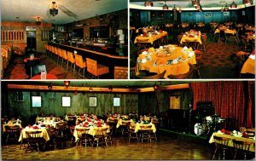
POLYGON ((22 91, 23 101, 17 101, 17 90, 9 90, 5 95, 6 105, 3 105, 2 115, 9 117, 21 116, 27 122, 35 118, 40 112, 54 114, 55 116, 65 116, 70 113, 93 113, 97 116, 108 112, 129 113, 137 112, 137 94, 118 93, 88 93, 78 92, 49 92, 49 91, 22 91), (32 96, 41 96, 42 106, 32 107, 32 96), (71 97, 71 107, 62 107, 62 96, 71 97), (89 106, 90 96, 96 96, 97 106, 89 106), (120 106, 113 106, 113 97, 120 98, 120 106))

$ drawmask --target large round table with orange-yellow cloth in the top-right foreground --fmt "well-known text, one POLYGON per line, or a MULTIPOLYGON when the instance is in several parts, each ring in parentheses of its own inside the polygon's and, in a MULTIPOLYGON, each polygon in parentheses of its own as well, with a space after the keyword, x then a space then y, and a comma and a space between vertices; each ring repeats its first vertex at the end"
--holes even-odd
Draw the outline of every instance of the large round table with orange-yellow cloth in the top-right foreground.
POLYGON ((141 70, 161 73, 166 70, 164 78, 168 75, 178 75, 189 72, 189 63, 196 64, 195 52, 191 49, 175 47, 172 54, 165 49, 155 49, 153 52, 145 52, 137 58, 137 73, 141 70))

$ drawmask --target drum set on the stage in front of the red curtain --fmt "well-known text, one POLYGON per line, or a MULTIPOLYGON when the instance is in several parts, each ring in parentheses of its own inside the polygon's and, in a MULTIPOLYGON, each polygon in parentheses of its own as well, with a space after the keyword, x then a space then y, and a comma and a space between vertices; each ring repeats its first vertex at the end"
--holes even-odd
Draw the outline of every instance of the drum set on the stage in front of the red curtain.
POLYGON ((195 123, 195 135, 209 135, 210 132, 218 131, 224 125, 225 118, 218 117, 217 114, 207 116, 201 119, 201 122, 195 123))

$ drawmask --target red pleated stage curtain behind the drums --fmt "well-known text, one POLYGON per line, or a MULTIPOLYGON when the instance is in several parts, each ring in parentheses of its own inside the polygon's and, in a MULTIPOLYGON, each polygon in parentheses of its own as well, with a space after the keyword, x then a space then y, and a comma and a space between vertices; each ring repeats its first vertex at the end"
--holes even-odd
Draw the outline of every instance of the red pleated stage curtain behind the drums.
POLYGON ((196 109, 197 101, 212 101, 218 116, 236 118, 239 127, 251 128, 253 87, 254 83, 247 81, 191 83, 194 95, 193 109, 196 109))

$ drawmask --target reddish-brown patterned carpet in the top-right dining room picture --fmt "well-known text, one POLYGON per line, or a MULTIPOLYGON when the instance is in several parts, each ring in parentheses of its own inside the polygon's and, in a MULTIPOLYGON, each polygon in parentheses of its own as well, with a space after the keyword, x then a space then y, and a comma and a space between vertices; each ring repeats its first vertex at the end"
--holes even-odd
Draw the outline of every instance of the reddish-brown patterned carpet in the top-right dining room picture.
MULTIPOLYGON (((168 43, 177 44, 177 34, 179 32, 169 32, 166 38, 168 43)), ((236 57, 236 52, 243 50, 241 43, 235 42, 217 42, 212 34, 207 32, 207 52, 203 52, 201 60, 201 79, 236 79, 236 78, 254 78, 254 75, 241 76, 241 66, 236 57)), ((135 66, 137 60, 137 46, 131 43, 130 48, 130 66, 135 66)), ((198 79, 194 74, 193 78, 198 79)))

